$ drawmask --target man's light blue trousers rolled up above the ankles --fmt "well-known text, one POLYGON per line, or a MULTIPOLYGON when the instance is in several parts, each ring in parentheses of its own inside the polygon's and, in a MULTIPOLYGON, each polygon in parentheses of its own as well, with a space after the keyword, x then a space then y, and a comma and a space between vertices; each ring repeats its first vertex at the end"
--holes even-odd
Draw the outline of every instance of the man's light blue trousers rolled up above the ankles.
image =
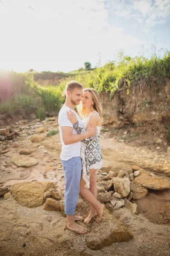
POLYGON ((66 215, 74 215, 79 199, 79 185, 82 175, 82 160, 80 157, 72 157, 62 160, 65 177, 64 206, 66 215))

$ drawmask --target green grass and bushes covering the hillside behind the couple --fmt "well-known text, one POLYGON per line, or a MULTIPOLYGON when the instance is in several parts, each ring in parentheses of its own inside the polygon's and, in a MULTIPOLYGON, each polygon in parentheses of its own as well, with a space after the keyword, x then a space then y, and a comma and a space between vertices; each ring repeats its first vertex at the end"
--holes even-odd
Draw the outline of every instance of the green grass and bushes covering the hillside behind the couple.
POLYGON ((120 52, 118 61, 110 61, 93 70, 80 68, 69 73, 36 73, 34 70, 29 70, 28 73, 1 72, 0 113, 34 110, 37 117, 44 119, 46 111, 59 111, 65 99, 65 84, 70 80, 77 80, 84 87, 93 87, 99 93, 102 90, 110 91, 113 96, 122 82, 128 93, 131 84, 137 85, 143 79, 148 86, 152 86, 153 79, 162 84, 167 78, 170 78, 170 52, 165 53, 162 58, 154 55, 150 60, 144 57, 131 58, 120 52), (56 86, 41 87, 35 82, 54 76, 62 79, 56 86))

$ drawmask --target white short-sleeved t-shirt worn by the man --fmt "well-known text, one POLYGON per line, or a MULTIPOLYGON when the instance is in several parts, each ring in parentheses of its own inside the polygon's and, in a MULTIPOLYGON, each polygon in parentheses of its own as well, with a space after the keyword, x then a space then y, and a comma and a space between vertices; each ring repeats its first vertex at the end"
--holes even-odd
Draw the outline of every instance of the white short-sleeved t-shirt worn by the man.
MULTIPOLYGON (((59 117, 58 117, 58 122, 59 122, 59 135, 60 135, 60 140, 62 143, 62 151, 61 151, 61 160, 68 160, 72 157, 79 157, 80 156, 80 149, 81 149, 81 141, 69 145, 65 145, 63 140, 62 140, 62 131, 61 127, 62 126, 69 126, 73 127, 73 124, 68 120, 67 118, 67 111, 71 110, 71 108, 66 107, 63 105, 63 107, 59 111, 59 117)), ((82 125, 82 120, 78 116, 77 113, 75 113, 77 116, 77 120, 79 123, 82 125)), ((72 134, 77 134, 76 129, 73 128, 72 134)))

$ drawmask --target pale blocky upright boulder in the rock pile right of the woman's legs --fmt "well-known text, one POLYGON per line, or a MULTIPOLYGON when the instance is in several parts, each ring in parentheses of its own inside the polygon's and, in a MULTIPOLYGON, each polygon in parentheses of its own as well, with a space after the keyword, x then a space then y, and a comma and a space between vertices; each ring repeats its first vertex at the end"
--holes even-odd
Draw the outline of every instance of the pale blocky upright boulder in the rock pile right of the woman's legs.
POLYGON ((115 192, 118 192, 122 198, 130 193, 130 180, 128 178, 116 177, 113 180, 113 184, 115 192))

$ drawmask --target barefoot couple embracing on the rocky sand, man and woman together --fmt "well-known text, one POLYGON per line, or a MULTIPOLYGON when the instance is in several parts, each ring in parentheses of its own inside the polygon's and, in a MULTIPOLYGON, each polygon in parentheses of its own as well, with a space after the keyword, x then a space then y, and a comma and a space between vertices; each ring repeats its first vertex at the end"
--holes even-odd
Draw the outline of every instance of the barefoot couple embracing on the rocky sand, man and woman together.
POLYGON ((83 90, 77 81, 70 81, 66 84, 65 91, 66 101, 59 111, 58 121, 62 143, 60 157, 65 176, 66 226, 69 230, 84 234, 87 229, 75 222, 82 217, 74 215, 79 193, 91 204, 85 223, 89 223, 95 215, 96 221, 100 222, 103 215, 104 205, 96 199, 96 169, 102 167, 99 146, 102 112, 96 90, 83 90), (79 115, 74 111, 76 105, 79 106, 79 115))

